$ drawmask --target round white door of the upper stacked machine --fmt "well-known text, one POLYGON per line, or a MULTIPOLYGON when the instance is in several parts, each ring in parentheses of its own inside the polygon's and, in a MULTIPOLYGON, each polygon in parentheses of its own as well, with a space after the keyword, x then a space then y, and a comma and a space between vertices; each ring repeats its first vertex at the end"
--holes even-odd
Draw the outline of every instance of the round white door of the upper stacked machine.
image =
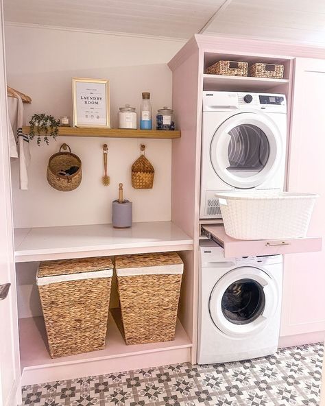
POLYGON ((210 160, 224 182, 251 189, 272 178, 284 154, 278 127, 263 112, 239 112, 221 123, 210 144, 210 160))

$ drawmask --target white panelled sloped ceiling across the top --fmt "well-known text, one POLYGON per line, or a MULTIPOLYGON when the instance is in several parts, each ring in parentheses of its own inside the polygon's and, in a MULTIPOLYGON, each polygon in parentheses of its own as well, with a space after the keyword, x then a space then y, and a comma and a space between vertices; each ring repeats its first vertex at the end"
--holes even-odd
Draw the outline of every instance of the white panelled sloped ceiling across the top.
POLYGON ((4 0, 5 21, 188 39, 228 34, 325 45, 325 0, 4 0))

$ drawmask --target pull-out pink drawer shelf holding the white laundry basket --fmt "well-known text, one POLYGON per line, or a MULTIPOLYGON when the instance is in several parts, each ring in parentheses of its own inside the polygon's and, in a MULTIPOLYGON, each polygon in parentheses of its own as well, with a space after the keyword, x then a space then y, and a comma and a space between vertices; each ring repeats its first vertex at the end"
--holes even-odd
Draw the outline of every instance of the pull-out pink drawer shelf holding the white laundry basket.
POLYGON ((241 240, 226 235, 222 224, 202 226, 204 233, 224 248, 226 258, 246 255, 295 254, 322 250, 321 237, 276 240, 241 240))

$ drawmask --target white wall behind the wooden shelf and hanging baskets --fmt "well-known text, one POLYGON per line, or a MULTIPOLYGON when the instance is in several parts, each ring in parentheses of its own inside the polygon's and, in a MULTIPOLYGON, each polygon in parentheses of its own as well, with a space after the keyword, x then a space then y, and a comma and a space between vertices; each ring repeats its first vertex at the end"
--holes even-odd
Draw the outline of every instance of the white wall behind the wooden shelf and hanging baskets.
MULTIPOLYGON (((26 122, 34 112, 72 117, 71 77, 108 78, 112 127, 117 112, 128 103, 139 110, 141 92, 152 93, 154 112, 171 106, 171 71, 167 62, 182 41, 73 32, 35 27, 5 27, 8 84, 33 99, 25 105, 26 122)), ((134 203, 134 221, 170 219, 171 141, 145 141, 146 156, 155 168, 154 188, 131 185, 131 165, 141 140, 59 137, 49 147, 31 143, 29 190, 18 188, 18 166, 12 165, 16 227, 102 224, 110 222, 111 202, 119 182, 134 203), (52 189, 46 180, 49 156, 69 143, 82 158, 83 180, 71 192, 52 189), (101 147, 108 143, 109 187, 101 184, 101 147)))

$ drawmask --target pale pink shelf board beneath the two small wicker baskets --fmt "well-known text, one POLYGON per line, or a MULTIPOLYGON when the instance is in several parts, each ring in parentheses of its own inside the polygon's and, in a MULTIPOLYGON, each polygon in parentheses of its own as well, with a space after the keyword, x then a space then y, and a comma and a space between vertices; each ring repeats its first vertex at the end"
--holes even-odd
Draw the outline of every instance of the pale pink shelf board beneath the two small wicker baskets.
POLYGON ((268 91, 281 84, 289 84, 289 80, 250 76, 203 75, 204 91, 268 91))

